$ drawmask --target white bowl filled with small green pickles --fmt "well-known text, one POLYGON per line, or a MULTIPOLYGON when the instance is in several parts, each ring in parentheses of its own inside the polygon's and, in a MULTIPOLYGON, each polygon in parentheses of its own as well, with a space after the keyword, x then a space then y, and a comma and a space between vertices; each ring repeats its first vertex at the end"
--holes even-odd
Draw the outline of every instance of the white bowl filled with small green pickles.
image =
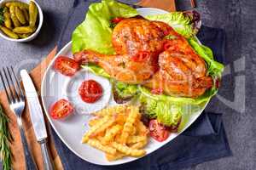
POLYGON ((0 1, 0 36, 13 42, 29 42, 38 36, 43 12, 33 0, 0 1))

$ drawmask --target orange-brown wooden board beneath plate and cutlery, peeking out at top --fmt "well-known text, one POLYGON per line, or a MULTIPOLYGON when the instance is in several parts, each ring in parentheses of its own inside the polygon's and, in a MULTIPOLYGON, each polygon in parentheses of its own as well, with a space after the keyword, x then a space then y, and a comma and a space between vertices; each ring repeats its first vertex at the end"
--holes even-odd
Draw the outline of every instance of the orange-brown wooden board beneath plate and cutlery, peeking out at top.
MULTIPOLYGON (((168 11, 175 11, 175 0, 142 0, 140 3, 137 3, 138 5, 141 5, 143 7, 154 7, 154 8, 163 8, 168 11)), ((38 94, 40 94, 40 87, 42 78, 44 76, 44 71, 46 70, 47 66, 49 65, 49 62, 51 59, 55 57, 56 54, 56 48, 54 48, 49 55, 36 67, 31 71, 31 77, 32 80, 38 89, 38 94)), ((25 162, 24 162, 24 156, 23 156, 23 149, 21 145, 21 139, 20 139, 20 132, 16 123, 15 115, 10 111, 8 101, 6 98, 6 95, 3 91, 0 92, 0 103, 3 105, 3 109, 7 116, 10 118, 9 123, 9 129, 12 133, 12 136, 14 138, 13 143, 11 144, 11 150, 13 153, 13 168, 16 170, 22 170, 25 169, 25 162)), ((49 126, 49 122, 45 119, 45 122, 49 126)), ((44 169, 43 159, 41 155, 40 145, 38 144, 33 129, 32 129, 32 122, 30 121, 29 112, 26 108, 26 111, 24 112, 23 116, 23 125, 24 129, 26 131, 26 138, 28 141, 28 144, 30 146, 30 149, 32 150, 32 155, 35 158, 35 161, 38 165, 38 168, 44 169)), ((52 155, 52 158, 55 162, 55 168, 56 169, 63 169, 61 165, 60 157, 57 155, 57 152, 55 150, 55 145, 52 141, 52 139, 49 139, 49 150, 52 155)))

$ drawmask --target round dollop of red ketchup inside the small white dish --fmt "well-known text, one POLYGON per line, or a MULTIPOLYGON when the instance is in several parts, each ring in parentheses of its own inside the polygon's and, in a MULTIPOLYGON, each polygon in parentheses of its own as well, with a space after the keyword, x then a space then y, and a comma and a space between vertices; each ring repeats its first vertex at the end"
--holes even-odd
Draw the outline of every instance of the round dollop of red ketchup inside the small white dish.
POLYGON ((94 80, 86 80, 79 87, 81 99, 86 103, 95 103, 102 97, 102 86, 94 80))

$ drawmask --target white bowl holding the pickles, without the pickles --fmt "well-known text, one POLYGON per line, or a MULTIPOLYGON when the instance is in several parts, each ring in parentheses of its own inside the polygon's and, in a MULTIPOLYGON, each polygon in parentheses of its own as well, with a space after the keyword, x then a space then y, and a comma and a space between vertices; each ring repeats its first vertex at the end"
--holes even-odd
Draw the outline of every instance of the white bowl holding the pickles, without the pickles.
MULTIPOLYGON (((10 2, 10 1, 14 1, 14 0, 0 0, 0 7, 3 6, 3 3, 7 3, 7 2, 10 2)), ((19 0, 20 2, 22 3, 29 3, 31 0, 19 0)), ((13 38, 10 38, 8 36, 6 36, 2 31, 0 31, 0 36, 3 37, 4 39, 6 40, 9 40, 9 41, 12 41, 12 42, 30 42, 32 41, 35 37, 38 36, 38 33, 39 31, 41 30, 42 26, 43 26, 43 20, 44 20, 44 16, 43 16, 43 11, 42 9, 40 8, 40 6, 38 5, 37 2, 33 1, 34 3, 36 3, 37 7, 38 7, 38 18, 39 18, 39 22, 38 22, 38 27, 37 27, 37 30, 32 33, 32 35, 30 35, 29 37, 26 37, 26 38, 22 38, 22 39, 13 39, 13 38)))

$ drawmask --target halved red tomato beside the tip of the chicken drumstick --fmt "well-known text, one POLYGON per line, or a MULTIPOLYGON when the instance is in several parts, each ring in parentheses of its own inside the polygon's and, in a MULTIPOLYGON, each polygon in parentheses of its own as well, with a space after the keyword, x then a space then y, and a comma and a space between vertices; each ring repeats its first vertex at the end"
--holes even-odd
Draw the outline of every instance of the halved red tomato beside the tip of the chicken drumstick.
POLYGON ((61 72, 65 76, 73 76, 77 71, 79 71, 79 63, 74 59, 70 59, 65 56, 59 56, 55 59, 54 68, 56 71, 61 72))

